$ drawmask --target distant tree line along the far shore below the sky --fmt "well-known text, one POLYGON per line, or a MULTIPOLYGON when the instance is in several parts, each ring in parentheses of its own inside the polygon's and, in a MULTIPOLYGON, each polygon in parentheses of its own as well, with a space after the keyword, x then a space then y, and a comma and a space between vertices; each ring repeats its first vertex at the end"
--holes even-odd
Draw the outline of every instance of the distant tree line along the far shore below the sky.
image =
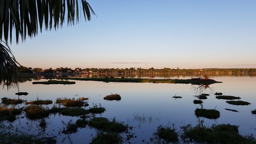
POLYGON ((174 68, 31 68, 25 66, 19 66, 19 70, 22 74, 88 74, 88 73, 180 73, 180 74, 209 74, 209 73, 256 73, 256 68, 207 68, 207 69, 174 69, 174 68))

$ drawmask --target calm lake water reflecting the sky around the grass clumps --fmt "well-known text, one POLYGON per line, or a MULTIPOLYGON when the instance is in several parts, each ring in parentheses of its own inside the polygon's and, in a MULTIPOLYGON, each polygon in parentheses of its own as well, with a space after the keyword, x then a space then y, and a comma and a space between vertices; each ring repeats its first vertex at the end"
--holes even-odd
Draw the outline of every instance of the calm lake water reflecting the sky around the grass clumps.
MULTIPOLYGON (((131 76, 136 77, 136 76, 131 76)), ((151 78, 153 76, 142 76, 142 78, 151 78)), ((188 79, 191 76, 157 76, 154 78, 171 78, 171 79, 188 79)), ((131 133, 136 138, 130 140, 131 143, 150 142, 150 137, 156 132, 156 128, 161 124, 163 126, 175 126, 180 131, 180 126, 192 124, 196 126, 198 120, 204 120, 204 125, 212 124, 232 124, 239 125, 239 132, 242 135, 256 134, 256 115, 252 115, 251 111, 256 109, 256 76, 212 76, 212 79, 223 83, 211 84, 210 88, 202 89, 203 93, 210 94, 208 99, 203 100, 202 105, 194 104, 193 100, 198 99, 195 96, 200 92, 196 92, 195 85, 191 84, 152 84, 152 83, 104 83, 93 81, 75 81, 72 85, 41 85, 32 84, 34 81, 46 81, 44 79, 31 80, 19 84, 20 92, 28 92, 27 96, 20 96, 22 100, 52 100, 57 98, 89 98, 88 107, 93 104, 101 105, 106 108, 106 112, 96 115, 97 117, 106 117, 110 120, 124 122, 129 126, 133 126, 131 133), (223 95, 239 96, 243 101, 250 102, 248 106, 235 106, 226 103, 226 100, 218 100, 215 98, 215 92, 222 92, 223 95), (107 101, 104 96, 109 94, 120 94, 120 101, 107 101), (172 96, 182 96, 182 98, 172 98, 172 96), (220 118, 210 120, 207 118, 197 118, 194 114, 196 108, 216 109, 220 111, 220 118), (232 112, 225 108, 238 110, 232 112), (140 120, 138 118, 141 118, 140 120)), ((70 80, 72 81, 72 80, 70 80)), ((0 98, 18 98, 15 93, 17 88, 6 88, 0 90, 0 98)), ((24 107, 20 104, 16 107, 24 107)), ((52 105, 47 105, 52 108, 52 105)), ((88 108, 87 107, 87 108, 88 108)), ((27 120, 22 118, 25 114, 13 123, 5 124, 18 127, 23 132, 31 134, 40 134, 50 137, 56 137, 58 144, 74 143, 88 144, 92 141, 92 137, 96 135, 97 130, 86 127, 78 129, 75 134, 62 134, 64 127, 62 121, 67 123, 69 120, 76 122, 79 117, 51 115, 46 118, 47 128, 45 131, 38 126, 40 120, 27 120), (27 124, 28 123, 28 124, 27 124)), ((125 134, 124 134, 125 135, 125 134)), ((124 136, 125 137, 125 136, 124 136)))

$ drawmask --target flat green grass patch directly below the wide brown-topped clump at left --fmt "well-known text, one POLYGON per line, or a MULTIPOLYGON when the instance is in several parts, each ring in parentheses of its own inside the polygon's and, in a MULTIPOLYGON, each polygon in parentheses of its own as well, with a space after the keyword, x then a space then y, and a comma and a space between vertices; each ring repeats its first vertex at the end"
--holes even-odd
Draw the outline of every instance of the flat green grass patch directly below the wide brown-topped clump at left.
POLYGON ((84 108, 63 108, 60 114, 64 116, 81 116, 89 114, 89 111, 84 108))

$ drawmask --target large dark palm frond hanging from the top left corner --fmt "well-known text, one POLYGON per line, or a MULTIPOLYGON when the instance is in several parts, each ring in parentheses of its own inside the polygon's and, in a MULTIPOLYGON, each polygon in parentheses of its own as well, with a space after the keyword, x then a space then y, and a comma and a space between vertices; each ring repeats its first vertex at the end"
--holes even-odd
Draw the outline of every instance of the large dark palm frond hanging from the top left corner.
POLYGON ((4 37, 7 43, 12 43, 12 29, 15 29, 16 43, 19 37, 22 42, 26 36, 32 38, 45 30, 56 30, 63 26, 67 18, 68 26, 79 22, 80 12, 83 11, 85 21, 91 20, 94 14, 86 0, 0 0, 0 40, 4 37), (67 10, 66 10, 67 9, 67 10))

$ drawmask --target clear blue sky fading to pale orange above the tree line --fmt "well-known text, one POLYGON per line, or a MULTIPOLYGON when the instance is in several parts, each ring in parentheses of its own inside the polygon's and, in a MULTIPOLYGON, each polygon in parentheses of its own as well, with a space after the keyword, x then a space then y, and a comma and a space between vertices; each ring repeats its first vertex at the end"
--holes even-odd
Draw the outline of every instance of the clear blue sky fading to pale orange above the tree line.
POLYGON ((10 48, 32 68, 256 68, 256 0, 87 0, 96 16, 10 48))

